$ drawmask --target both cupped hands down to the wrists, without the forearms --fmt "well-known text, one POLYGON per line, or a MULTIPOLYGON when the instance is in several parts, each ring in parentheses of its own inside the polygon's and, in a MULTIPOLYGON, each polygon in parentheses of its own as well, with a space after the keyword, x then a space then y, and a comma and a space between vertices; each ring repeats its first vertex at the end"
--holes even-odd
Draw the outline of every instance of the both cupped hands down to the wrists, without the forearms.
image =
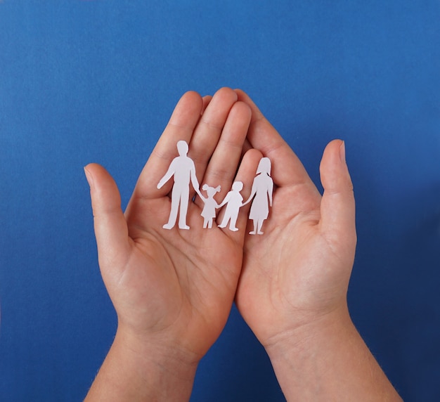
MULTIPOLYGON (((321 162, 324 193, 302 163, 242 91, 223 88, 202 98, 188 92, 176 105, 141 175, 125 214, 115 181, 89 164, 101 274, 118 317, 118 334, 133 351, 155 345, 164 361, 194 367, 219 337, 235 300, 271 356, 283 342, 301 342, 304 328, 347 317, 347 287, 354 260, 354 196, 344 143, 332 141, 321 162), (162 229, 172 181, 157 183, 189 144, 199 183, 233 181, 242 195, 261 157, 272 162, 273 207, 264 235, 202 228, 202 200, 188 208, 190 231, 162 229)), ((220 221, 221 213, 217 221, 220 221)), ((153 354, 150 358, 155 358, 153 354)), ((162 363, 161 363, 162 364, 162 363)))

